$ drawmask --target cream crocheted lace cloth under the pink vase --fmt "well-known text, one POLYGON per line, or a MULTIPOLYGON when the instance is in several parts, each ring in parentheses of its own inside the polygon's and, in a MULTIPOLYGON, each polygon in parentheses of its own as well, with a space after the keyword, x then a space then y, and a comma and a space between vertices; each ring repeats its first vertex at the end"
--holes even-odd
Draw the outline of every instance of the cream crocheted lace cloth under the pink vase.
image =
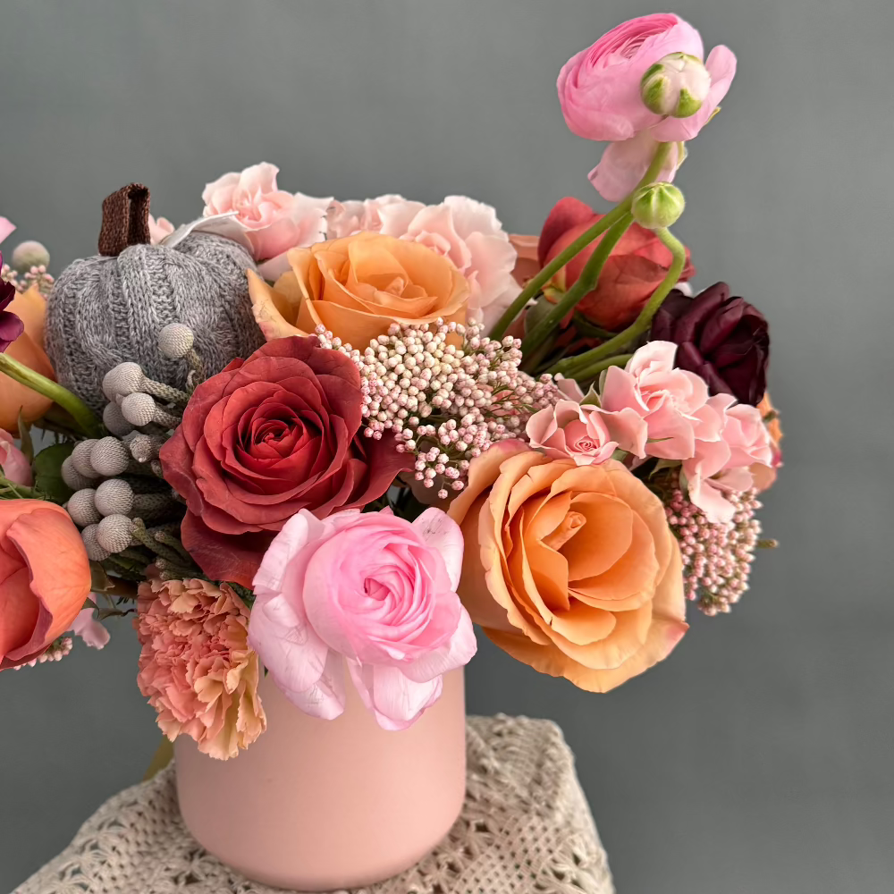
MULTIPOLYGON (((613 894, 561 730, 503 715, 470 717, 467 730, 466 804, 450 835, 414 869, 363 894, 613 894)), ((274 894, 190 836, 173 772, 106 801, 13 894, 274 894)))

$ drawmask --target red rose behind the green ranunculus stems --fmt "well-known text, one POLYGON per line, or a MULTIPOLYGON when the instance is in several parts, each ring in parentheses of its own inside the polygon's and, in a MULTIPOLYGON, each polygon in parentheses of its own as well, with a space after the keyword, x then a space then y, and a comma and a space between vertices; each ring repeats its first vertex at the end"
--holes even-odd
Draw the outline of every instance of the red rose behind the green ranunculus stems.
MULTIPOLYGON (((537 245, 540 266, 552 261, 602 217, 577 198, 562 198, 546 218, 540 233, 537 245)), ((578 281, 599 239, 591 242, 556 275, 555 279, 563 290, 567 291, 578 281)), ((671 250, 654 232, 634 223, 605 262, 596 288, 584 297, 577 309, 595 325, 617 332, 639 316, 670 266, 671 250)), ((680 282, 686 282, 695 273, 696 268, 689 263, 687 249, 686 267, 680 275, 680 282)))

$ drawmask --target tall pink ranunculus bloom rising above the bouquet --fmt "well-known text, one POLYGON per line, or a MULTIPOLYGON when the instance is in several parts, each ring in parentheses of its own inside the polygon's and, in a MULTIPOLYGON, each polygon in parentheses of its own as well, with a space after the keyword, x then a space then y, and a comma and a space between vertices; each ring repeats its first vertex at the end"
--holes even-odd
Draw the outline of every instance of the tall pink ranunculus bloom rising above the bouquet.
POLYGON ((559 101, 569 129, 611 143, 590 173, 595 189, 609 201, 620 201, 636 186, 659 142, 678 144, 658 176, 671 181, 685 156, 679 144, 696 136, 730 89, 736 56, 715 46, 704 62, 710 86, 696 114, 674 118, 650 111, 640 92, 643 75, 673 53, 704 59, 702 38, 679 16, 655 13, 613 28, 561 70, 559 101))

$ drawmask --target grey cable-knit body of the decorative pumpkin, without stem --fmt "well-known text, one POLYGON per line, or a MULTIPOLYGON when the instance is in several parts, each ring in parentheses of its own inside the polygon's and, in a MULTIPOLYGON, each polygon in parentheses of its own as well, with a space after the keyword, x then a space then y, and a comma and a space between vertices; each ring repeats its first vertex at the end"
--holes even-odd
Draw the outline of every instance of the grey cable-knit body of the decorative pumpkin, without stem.
POLYGON ((208 375, 264 343, 249 299, 249 253, 232 240, 193 232, 173 249, 133 245, 118 257, 82 258, 56 280, 47 302, 46 352, 56 377, 97 412, 103 376, 125 360, 156 382, 185 388, 190 367, 165 358, 158 333, 182 323, 208 375))

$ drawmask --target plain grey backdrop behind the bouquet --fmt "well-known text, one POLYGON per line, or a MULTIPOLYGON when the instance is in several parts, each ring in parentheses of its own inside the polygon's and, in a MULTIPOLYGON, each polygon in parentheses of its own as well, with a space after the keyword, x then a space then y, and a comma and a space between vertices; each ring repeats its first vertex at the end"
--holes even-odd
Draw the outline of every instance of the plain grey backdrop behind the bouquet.
MULTIPOLYGON (((699 274, 772 324, 785 468, 730 617, 607 696, 488 644, 469 708, 561 723, 620 894, 894 890, 890 470, 890 0, 678 0, 739 73, 690 145, 677 230, 699 274)), ((287 188, 466 193, 537 232, 599 148, 554 82, 645 0, 2 0, 0 214, 55 265, 91 254, 100 201, 157 214, 260 160, 287 188)), ((15 244, 13 237, 7 249, 15 244)), ((97 654, 0 679, 0 890, 55 855, 157 744, 124 625, 97 654)))

